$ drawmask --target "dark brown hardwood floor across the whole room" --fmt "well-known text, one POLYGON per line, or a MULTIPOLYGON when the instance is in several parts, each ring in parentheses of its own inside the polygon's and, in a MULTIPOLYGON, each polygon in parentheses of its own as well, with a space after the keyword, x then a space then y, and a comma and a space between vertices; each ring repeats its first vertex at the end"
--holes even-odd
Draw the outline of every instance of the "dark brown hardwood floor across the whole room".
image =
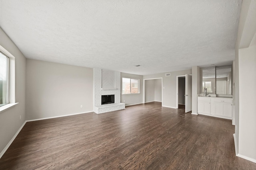
POLYGON ((255 170, 235 156, 233 133, 230 120, 151 102, 27 122, 0 169, 255 170))

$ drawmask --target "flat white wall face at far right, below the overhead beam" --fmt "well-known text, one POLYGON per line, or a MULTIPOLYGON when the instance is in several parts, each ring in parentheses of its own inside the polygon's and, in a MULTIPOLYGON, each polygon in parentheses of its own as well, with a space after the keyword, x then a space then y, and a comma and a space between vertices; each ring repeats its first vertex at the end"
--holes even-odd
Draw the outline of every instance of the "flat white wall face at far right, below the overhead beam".
POLYGON ((238 55, 239 154, 256 161, 256 45, 239 49, 238 55))

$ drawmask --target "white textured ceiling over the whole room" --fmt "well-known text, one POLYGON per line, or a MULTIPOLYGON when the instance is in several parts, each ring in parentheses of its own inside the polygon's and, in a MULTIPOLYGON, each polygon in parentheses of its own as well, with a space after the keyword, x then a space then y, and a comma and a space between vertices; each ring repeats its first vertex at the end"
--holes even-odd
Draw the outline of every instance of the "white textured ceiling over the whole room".
POLYGON ((26 58, 146 75, 230 64, 241 2, 1 0, 0 26, 26 58))

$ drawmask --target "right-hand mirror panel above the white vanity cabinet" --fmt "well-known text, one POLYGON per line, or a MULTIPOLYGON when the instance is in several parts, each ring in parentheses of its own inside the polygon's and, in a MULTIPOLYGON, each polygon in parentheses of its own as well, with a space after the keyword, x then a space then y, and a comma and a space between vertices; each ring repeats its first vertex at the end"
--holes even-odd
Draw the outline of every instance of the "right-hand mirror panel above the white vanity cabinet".
POLYGON ((232 65, 216 67, 216 94, 232 94, 232 65))

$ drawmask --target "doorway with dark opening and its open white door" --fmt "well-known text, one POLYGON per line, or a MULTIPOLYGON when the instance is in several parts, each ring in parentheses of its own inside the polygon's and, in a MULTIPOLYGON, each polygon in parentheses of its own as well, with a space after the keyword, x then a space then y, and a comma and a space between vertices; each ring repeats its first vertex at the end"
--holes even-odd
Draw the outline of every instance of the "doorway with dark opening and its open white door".
POLYGON ((192 75, 177 76, 176 82, 176 108, 184 108, 185 104, 185 113, 192 111, 192 75))

